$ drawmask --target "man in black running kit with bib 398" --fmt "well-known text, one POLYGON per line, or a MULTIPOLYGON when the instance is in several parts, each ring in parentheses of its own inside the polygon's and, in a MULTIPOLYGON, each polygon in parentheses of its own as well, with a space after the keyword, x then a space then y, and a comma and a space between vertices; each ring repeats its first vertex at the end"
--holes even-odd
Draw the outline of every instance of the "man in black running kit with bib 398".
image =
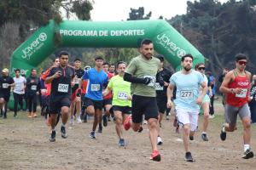
POLYGON ((45 78, 46 84, 51 82, 49 113, 52 133, 49 139, 50 142, 55 141, 55 126, 60 109, 62 113, 61 137, 67 139, 65 125, 71 104, 71 88, 73 88, 75 84, 75 70, 71 65, 67 65, 68 57, 66 51, 61 51, 59 55, 60 64, 50 67, 49 71, 47 71, 47 77, 45 78))

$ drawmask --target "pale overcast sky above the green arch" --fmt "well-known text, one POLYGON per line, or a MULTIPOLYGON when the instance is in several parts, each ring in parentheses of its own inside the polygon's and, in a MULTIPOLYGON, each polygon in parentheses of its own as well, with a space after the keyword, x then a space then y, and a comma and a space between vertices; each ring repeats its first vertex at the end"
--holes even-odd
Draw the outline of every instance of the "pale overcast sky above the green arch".
MULTIPOLYGON (((152 11, 150 20, 160 15, 171 19, 176 14, 186 14, 188 0, 95 0, 90 17, 93 21, 121 21, 129 18, 130 8, 144 7, 145 15, 152 11), (151 3, 154 2, 154 3, 151 3)), ((194 2, 194 0, 190 0, 194 2)), ((199 0, 197 0, 199 1, 199 0)), ((228 0, 218 0, 226 3, 228 0)))

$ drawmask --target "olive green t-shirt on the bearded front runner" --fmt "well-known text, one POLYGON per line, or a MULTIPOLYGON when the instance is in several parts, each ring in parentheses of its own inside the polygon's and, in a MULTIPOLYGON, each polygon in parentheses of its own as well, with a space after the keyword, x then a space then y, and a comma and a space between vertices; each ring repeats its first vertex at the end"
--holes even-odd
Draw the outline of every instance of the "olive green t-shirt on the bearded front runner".
POLYGON ((131 74, 133 77, 144 78, 151 77, 153 82, 148 85, 142 83, 131 83, 131 94, 136 94, 145 97, 155 97, 155 76, 160 72, 160 59, 152 57, 152 59, 143 59, 139 55, 131 59, 130 65, 127 66, 126 73, 131 74))

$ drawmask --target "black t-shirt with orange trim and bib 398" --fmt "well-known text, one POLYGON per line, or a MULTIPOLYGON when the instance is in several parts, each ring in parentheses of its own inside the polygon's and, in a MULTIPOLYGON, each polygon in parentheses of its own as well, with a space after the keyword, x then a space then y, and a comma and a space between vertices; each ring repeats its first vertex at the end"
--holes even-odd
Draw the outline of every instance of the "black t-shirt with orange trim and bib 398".
POLYGON ((50 102, 58 101, 63 97, 71 99, 71 81, 75 77, 75 69, 71 65, 67 65, 65 69, 62 69, 60 65, 54 65, 49 68, 46 77, 52 77, 57 71, 61 71, 61 77, 55 78, 51 82, 50 102))

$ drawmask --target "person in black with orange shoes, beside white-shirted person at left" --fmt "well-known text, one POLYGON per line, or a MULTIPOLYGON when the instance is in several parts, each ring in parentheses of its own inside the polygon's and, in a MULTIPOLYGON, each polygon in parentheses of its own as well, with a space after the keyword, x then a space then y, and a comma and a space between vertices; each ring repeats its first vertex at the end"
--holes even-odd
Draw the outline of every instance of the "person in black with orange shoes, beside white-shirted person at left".
POLYGON ((33 105, 33 116, 37 117, 37 106, 38 106, 38 94, 41 88, 40 78, 36 76, 37 70, 32 68, 31 75, 26 79, 27 97, 28 97, 28 117, 32 117, 32 105, 33 105))

